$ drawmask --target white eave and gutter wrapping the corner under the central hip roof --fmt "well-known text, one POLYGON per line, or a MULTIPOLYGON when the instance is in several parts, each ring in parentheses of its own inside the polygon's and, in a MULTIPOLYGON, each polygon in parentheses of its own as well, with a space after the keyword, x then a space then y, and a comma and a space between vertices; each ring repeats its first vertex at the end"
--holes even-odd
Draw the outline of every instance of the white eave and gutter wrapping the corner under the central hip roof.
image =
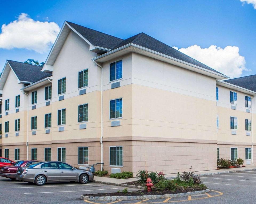
MULTIPOLYGON (((177 65, 177 66, 181 66, 181 67, 183 67, 183 68, 185 68, 185 69, 189 69, 189 70, 192 70, 192 71, 195 71, 195 72, 199 72, 199 73, 208 75, 208 76, 210 76, 210 77, 214 77, 214 78, 216 78, 217 80, 222 80, 222 79, 227 79, 227 78, 229 78, 229 77, 227 77, 226 75, 219 74, 219 73, 214 72, 214 71, 211 71, 211 70, 207 70, 207 69, 205 69, 205 68, 202 68, 202 67, 193 65, 193 64, 188 63, 188 62, 184 62, 184 61, 182 61, 182 60, 178 60, 178 59, 176 59, 176 58, 174 58, 174 57, 170 57, 170 56, 168 56, 168 55, 165 55, 165 54, 156 52, 156 51, 154 51, 154 50, 151 50, 151 49, 148 49, 148 48, 145 48, 145 47, 142 47, 142 46, 133 44, 133 43, 129 43, 129 44, 126 44, 126 45, 124 45, 124 46, 122 46, 122 47, 120 47, 120 48, 111 50, 111 51, 109 51, 109 52, 107 52, 107 53, 105 53, 105 54, 102 54, 102 55, 100 55, 100 56, 97 56, 97 57, 93 58, 92 60, 95 60, 95 61, 98 60, 99 62, 103 62, 103 61, 105 61, 105 60, 100 60, 100 59, 103 59, 103 58, 105 58, 105 57, 107 57, 107 56, 109 56, 109 55, 111 55, 111 54, 117 53, 117 52, 119 52, 119 51, 121 51, 121 50, 124 50, 124 49, 127 49, 127 48, 129 48, 129 47, 133 47, 133 48, 140 49, 140 50, 143 50, 143 51, 145 51, 145 52, 151 53, 151 56, 150 56, 150 57, 152 57, 152 54, 154 54, 155 56, 160 56, 160 57, 169 59, 169 60, 171 60, 171 61, 173 61, 173 62, 176 62, 176 63, 171 63, 171 62, 169 62, 169 63, 171 63, 171 64, 174 64, 174 65, 177 65), (184 66, 182 66, 182 65, 184 65, 184 66), (190 68, 193 68, 193 69, 190 69, 190 68), (199 71, 199 70, 200 70, 200 71, 199 71)), ((136 52, 136 51, 132 49, 132 50, 130 50, 130 52, 136 52)), ((122 55, 123 55, 123 54, 122 54, 122 55)), ((144 55, 146 55, 146 54, 144 53, 144 55)), ((146 56, 147 56, 147 55, 146 55, 146 56)), ((154 58, 157 58, 157 57, 154 57, 154 58)), ((107 60, 109 60, 109 59, 107 59, 107 60)), ((107 61, 107 60, 106 60, 106 61, 107 61)), ((159 60, 161 60, 161 59, 159 59, 159 60)))

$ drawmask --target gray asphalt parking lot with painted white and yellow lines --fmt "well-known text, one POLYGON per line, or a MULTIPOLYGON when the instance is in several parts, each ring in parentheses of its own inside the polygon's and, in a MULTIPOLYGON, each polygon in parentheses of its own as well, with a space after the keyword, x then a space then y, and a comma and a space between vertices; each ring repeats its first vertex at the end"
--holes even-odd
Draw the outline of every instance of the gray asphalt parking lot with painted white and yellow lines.
MULTIPOLYGON (((209 193, 171 199, 151 199, 144 201, 82 201, 81 194, 117 192, 122 187, 76 182, 51 183, 44 186, 26 182, 11 181, 0 177, 0 203, 93 203, 93 204, 153 204, 153 203, 255 203, 256 170, 201 176, 201 180, 211 189, 209 193)), ((129 189, 137 190, 137 189, 129 189)))

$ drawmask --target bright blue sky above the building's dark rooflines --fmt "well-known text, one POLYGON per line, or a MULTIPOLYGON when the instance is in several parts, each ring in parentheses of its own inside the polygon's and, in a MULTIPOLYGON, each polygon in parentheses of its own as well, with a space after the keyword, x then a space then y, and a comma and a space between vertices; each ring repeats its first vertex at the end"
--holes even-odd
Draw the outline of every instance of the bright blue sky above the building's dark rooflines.
MULTIPOLYGON (((0 0, 0 4, 0 26, 8 25, 17 20, 21 13, 25 13, 34 21, 55 22, 61 27, 67 20, 122 39, 144 32, 167 45, 184 48, 180 51, 228 76, 256 74, 256 9, 253 4, 239 0, 0 0), (208 49, 211 45, 216 45, 220 49, 218 50, 217 47, 208 49), (227 46, 229 49, 226 49, 227 46), (188 47, 190 49, 187 49, 188 47)), ((15 33, 15 39, 22 38, 24 35, 22 33, 23 31, 15 33)), ((39 29, 38 33, 42 31, 39 29)), ((47 51, 41 53, 26 48, 6 49, 3 35, 1 45, 1 35, 2 33, 0 34, 0 69, 4 67, 6 59, 22 62, 27 58, 40 62, 46 60, 51 43, 48 44, 47 51)), ((20 41, 23 41, 23 38, 20 41)), ((15 43, 13 44, 15 47, 15 43)))

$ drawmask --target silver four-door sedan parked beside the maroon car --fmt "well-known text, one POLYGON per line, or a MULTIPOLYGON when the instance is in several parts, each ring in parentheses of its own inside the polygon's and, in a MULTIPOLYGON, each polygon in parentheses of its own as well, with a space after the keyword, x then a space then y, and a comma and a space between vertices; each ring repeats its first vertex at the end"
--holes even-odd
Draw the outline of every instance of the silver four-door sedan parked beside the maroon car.
POLYGON ((64 162, 36 162, 27 167, 19 167, 15 178, 19 181, 44 185, 46 182, 77 181, 86 184, 92 181, 93 173, 76 169, 64 162))

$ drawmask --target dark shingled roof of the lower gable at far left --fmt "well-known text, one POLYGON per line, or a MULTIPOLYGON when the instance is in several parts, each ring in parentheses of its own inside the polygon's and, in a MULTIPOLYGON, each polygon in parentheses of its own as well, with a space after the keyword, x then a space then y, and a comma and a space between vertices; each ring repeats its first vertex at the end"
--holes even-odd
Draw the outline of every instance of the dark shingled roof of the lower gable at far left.
POLYGON ((20 81, 37 82, 50 77, 52 74, 41 72, 43 67, 30 65, 23 62, 7 60, 20 81))

